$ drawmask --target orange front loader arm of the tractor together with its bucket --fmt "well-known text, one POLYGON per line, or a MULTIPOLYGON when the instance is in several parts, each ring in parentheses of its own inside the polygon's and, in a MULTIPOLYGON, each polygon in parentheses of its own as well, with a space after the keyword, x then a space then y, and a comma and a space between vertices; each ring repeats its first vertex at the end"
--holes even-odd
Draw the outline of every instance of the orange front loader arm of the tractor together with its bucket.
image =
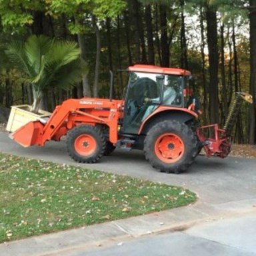
POLYGON ((117 125, 121 117, 122 101, 109 99, 68 99, 53 111, 49 120, 30 122, 15 133, 13 139, 21 145, 44 146, 46 141, 58 141, 73 127, 81 124, 103 124, 109 127, 109 141, 117 142, 117 125))

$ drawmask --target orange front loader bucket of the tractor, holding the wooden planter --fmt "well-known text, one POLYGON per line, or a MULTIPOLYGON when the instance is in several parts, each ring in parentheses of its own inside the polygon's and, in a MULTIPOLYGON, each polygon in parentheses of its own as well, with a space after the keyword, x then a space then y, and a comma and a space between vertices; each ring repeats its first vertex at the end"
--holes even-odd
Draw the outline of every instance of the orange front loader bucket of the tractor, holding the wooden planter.
POLYGON ((43 134, 43 127, 44 125, 40 121, 31 121, 17 129, 10 137, 23 147, 42 145, 41 136, 43 134))

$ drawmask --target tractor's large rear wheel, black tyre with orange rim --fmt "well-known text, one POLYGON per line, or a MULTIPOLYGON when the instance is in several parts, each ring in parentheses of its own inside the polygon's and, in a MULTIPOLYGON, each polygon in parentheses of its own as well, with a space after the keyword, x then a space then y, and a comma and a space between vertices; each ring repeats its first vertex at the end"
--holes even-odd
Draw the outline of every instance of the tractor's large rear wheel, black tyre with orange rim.
POLYGON ((166 173, 181 173, 195 159, 197 140, 185 123, 162 121, 147 133, 144 151, 154 168, 166 173))

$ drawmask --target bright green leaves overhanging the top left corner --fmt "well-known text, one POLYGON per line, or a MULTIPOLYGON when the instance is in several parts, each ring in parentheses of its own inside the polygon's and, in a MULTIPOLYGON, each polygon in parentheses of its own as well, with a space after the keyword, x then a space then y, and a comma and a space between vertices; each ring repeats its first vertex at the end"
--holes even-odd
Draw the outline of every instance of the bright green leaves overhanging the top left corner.
POLYGON ((93 14, 98 19, 105 19, 116 17, 125 6, 125 0, 0 0, 0 17, 5 31, 11 29, 13 32, 21 32, 24 31, 25 25, 33 23, 34 11, 42 11, 54 19, 64 14, 79 21, 75 26, 70 25, 72 33, 79 33, 82 29, 79 23, 83 23, 85 13, 93 14))

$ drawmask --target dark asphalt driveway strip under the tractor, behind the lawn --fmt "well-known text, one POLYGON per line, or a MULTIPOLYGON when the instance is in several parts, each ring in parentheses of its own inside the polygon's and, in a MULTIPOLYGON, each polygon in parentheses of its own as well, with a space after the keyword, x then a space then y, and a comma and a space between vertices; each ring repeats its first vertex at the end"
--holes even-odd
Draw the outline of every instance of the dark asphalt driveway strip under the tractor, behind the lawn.
POLYGON ((67 165, 79 165, 121 175, 149 179, 169 185, 180 185, 195 191, 205 203, 227 203, 254 199, 256 195, 256 159, 227 157, 197 157, 185 173, 167 174, 153 169, 142 151, 116 150, 102 157, 99 163, 79 164, 69 157, 65 141, 51 141, 45 147, 21 147, 0 132, 0 151, 43 159, 67 165))

